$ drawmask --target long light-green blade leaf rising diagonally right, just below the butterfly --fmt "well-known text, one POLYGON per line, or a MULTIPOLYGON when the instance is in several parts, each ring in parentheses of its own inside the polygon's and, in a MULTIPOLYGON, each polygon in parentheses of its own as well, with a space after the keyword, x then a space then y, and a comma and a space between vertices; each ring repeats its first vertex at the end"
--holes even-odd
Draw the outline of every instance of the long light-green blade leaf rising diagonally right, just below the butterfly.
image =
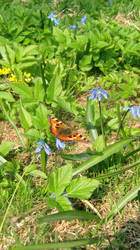
POLYGON ((132 139, 124 139, 124 140, 116 142, 113 145, 107 147, 104 150, 104 152, 102 152, 102 155, 93 156, 89 160, 87 160, 83 164, 81 164, 80 167, 74 169, 73 176, 95 166, 97 163, 102 162, 103 160, 107 159, 109 156, 119 152, 123 148, 123 146, 125 146, 126 144, 128 144, 131 141, 132 141, 132 139))

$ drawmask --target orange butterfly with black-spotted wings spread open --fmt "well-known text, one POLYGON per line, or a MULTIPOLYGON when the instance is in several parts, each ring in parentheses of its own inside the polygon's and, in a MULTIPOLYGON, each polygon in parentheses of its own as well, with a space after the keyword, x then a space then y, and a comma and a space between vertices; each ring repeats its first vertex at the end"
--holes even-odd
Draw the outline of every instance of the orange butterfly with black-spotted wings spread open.
POLYGON ((50 123, 50 131, 61 141, 72 142, 82 141, 88 142, 88 140, 77 132, 73 132, 71 128, 67 127, 63 122, 58 121, 52 116, 48 116, 50 123))

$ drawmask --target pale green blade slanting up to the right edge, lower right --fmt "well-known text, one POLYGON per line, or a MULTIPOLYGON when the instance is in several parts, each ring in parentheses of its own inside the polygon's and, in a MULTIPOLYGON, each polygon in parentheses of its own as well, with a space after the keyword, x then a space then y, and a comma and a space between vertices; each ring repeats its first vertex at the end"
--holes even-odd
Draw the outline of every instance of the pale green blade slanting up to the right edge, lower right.
POLYGON ((135 186, 121 200, 119 200, 108 214, 107 221, 111 220, 129 201, 135 199, 138 196, 139 190, 140 190, 140 184, 135 186))

